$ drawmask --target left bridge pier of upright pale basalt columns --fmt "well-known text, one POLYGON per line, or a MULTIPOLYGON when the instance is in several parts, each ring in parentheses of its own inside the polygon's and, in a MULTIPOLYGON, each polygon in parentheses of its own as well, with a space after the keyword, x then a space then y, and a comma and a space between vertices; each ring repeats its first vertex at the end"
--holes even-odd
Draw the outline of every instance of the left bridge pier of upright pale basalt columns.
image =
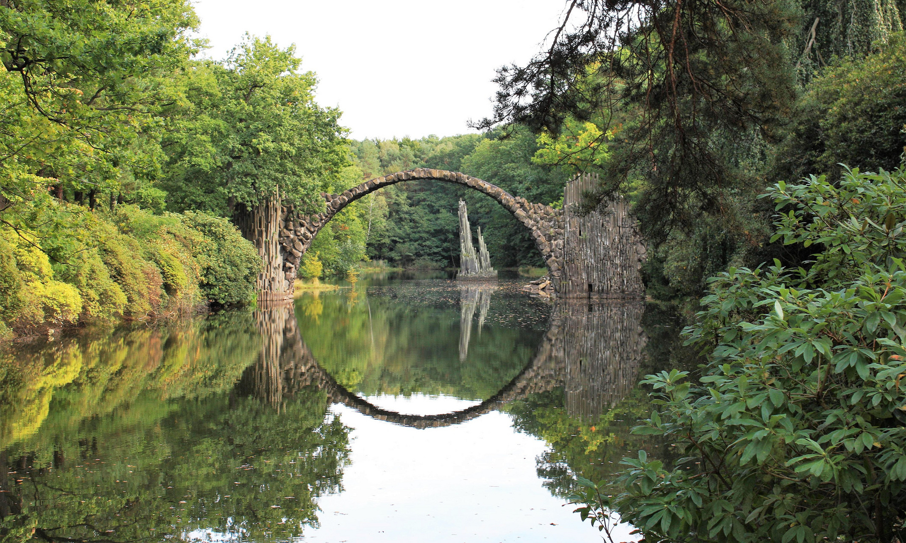
POLYGON ((264 264, 258 273, 258 301, 293 300, 293 281, 284 272, 284 255, 280 252, 280 223, 283 213, 280 193, 248 209, 236 205, 234 222, 246 239, 255 244, 264 264))

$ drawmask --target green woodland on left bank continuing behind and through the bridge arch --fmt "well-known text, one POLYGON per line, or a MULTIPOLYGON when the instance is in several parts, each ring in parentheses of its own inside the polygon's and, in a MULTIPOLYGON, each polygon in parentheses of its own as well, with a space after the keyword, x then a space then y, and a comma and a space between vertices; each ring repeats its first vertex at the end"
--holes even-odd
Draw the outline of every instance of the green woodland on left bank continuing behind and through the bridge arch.
MULTIPOLYGON (((0 335, 255 300, 260 257, 233 224, 274 194, 311 212, 321 192, 429 166, 558 199, 564 179, 532 162, 527 131, 351 141, 293 46, 246 35, 198 60, 197 26, 187 2, 0 5, 0 335)), ((459 197, 496 265, 541 262, 496 205, 411 184, 334 219, 301 275, 456 265, 459 197)))

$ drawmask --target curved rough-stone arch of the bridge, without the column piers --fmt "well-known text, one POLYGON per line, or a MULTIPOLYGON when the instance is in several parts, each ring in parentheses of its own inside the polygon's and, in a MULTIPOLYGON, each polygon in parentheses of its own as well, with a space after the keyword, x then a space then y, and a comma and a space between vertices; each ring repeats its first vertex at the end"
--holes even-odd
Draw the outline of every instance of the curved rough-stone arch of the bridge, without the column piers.
POLYGON ((325 209, 318 214, 297 214, 292 206, 286 206, 281 216, 280 243, 284 262, 284 276, 287 291, 292 291, 292 284, 302 255, 312 245, 312 240, 334 215, 344 207, 364 195, 380 190, 385 186, 396 185, 404 181, 434 180, 456 183, 475 189, 496 200, 507 211, 513 214, 520 223, 528 228, 535 240, 538 252, 545 259, 545 265, 556 288, 563 276, 564 267, 564 214, 563 210, 550 205, 533 204, 525 198, 514 196, 499 186, 495 186, 477 177, 467 176, 460 172, 450 172, 432 168, 415 168, 389 176, 375 177, 359 186, 352 187, 342 194, 322 193, 325 209))

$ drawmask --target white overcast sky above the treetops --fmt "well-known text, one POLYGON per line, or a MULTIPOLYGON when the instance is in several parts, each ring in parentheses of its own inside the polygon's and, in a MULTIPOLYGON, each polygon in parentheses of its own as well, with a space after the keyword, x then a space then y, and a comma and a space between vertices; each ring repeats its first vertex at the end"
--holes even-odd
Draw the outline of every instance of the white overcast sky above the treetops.
POLYGON ((563 0, 195 0, 221 59, 246 31, 295 43, 316 100, 339 106, 352 138, 453 136, 491 113, 499 66, 525 63, 563 0), (413 82, 414 81, 414 82, 413 82))

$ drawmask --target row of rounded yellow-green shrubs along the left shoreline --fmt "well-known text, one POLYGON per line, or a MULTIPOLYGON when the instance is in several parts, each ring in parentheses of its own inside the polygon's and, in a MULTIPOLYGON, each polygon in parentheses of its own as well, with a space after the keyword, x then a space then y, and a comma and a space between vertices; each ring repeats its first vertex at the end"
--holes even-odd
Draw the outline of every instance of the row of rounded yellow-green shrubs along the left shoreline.
POLYGON ((78 222, 68 246, 45 247, 53 239, 0 228, 2 340, 255 301, 261 260, 225 218, 152 214, 137 205, 56 206, 78 222))

